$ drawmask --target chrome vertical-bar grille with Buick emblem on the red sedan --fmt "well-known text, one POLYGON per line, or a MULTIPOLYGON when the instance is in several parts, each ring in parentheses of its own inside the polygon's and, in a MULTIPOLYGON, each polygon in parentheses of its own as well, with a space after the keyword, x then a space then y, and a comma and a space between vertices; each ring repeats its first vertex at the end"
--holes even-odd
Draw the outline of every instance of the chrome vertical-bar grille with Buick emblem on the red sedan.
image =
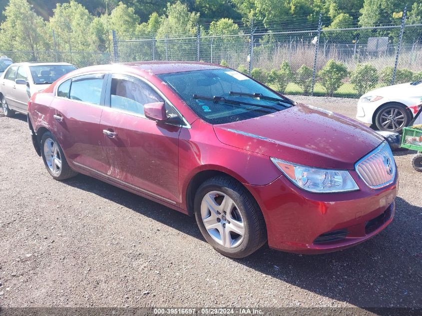
POLYGON ((387 142, 356 163, 356 171, 372 189, 379 189, 391 184, 396 177, 396 162, 387 142))

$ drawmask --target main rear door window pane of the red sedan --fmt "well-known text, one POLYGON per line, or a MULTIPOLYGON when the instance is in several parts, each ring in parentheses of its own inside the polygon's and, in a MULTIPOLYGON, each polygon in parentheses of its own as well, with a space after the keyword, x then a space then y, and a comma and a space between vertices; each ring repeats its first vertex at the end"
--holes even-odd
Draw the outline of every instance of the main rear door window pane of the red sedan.
POLYGON ((70 85, 70 99, 100 104, 103 81, 104 75, 73 78, 70 85))

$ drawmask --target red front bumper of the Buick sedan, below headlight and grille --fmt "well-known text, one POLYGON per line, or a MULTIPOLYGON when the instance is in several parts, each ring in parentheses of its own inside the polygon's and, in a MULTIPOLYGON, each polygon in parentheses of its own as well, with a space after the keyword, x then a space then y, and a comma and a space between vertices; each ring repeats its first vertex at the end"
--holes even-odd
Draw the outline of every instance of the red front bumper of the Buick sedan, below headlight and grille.
POLYGON ((315 194, 281 176, 266 186, 247 186, 264 214, 271 248, 302 254, 355 246, 387 227, 395 213, 397 177, 386 188, 370 189, 351 172, 360 191, 315 194))

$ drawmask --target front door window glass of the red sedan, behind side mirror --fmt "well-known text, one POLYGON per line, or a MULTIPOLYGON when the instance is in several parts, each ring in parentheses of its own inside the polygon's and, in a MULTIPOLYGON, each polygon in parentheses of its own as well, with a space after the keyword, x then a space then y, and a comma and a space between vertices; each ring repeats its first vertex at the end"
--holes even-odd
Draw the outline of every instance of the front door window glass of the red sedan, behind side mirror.
POLYGON ((164 102, 148 84, 125 75, 114 74, 111 78, 110 106, 144 115, 144 104, 164 102))

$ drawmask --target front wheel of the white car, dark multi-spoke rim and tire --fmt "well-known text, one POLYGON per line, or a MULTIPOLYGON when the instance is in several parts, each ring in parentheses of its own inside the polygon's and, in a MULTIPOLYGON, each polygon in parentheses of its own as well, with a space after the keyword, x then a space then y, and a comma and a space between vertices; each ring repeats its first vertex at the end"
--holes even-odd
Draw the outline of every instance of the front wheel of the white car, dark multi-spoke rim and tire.
POLYGON ((400 103, 390 103, 382 106, 375 116, 375 124, 382 131, 400 133, 403 127, 409 125, 411 114, 400 103))

